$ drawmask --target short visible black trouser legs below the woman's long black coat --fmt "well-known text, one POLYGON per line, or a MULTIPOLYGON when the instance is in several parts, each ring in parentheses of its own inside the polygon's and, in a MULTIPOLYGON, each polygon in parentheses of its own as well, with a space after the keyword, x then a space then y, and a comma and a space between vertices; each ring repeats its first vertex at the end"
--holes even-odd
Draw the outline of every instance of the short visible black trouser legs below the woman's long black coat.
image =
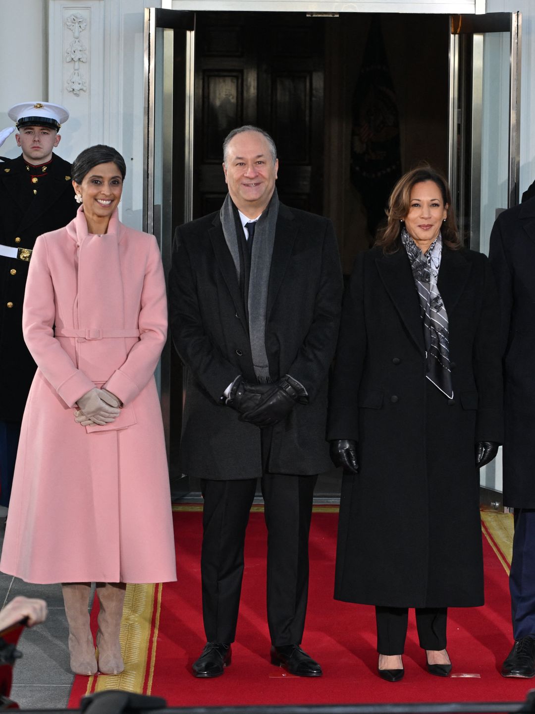
MULTIPOLYGON (((424 650, 445 650, 448 608, 416 608, 416 627, 420 647, 424 650)), ((377 652, 381 655, 402 655, 407 636, 409 608, 376 606, 377 652)))

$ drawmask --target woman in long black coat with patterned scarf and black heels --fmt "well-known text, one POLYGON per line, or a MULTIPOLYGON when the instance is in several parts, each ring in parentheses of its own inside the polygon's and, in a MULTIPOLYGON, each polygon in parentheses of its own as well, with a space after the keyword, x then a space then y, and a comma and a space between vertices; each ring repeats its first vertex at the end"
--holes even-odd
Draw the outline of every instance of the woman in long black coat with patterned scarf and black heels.
POLYGON ((345 296, 328 438, 344 467, 335 598, 375 605, 379 675, 397 681, 408 608, 447 676, 447 608, 483 604, 478 467, 503 420, 496 287, 447 182, 410 171, 387 217, 345 296))

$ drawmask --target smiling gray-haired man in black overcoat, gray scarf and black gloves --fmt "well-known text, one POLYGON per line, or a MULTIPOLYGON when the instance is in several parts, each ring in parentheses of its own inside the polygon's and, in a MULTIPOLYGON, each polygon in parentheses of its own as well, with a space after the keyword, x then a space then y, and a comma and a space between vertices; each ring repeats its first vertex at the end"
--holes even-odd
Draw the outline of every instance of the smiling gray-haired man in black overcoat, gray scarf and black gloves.
POLYGON ((230 664, 243 544, 260 478, 267 540, 271 661, 302 676, 320 665, 300 648, 308 533, 325 441, 327 371, 342 275, 332 223, 279 202, 271 137, 243 126, 223 144, 228 196, 220 211, 175 233, 170 325, 188 368, 183 471, 204 496, 203 618, 193 671, 230 664))

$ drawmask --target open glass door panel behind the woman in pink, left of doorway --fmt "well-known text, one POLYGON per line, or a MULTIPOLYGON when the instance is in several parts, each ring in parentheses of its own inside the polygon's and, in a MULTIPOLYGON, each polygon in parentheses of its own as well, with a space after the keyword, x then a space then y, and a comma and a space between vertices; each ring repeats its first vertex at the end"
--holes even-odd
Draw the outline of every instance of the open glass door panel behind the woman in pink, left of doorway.
MULTIPOLYGON (((175 226, 192 217, 193 12, 147 8, 143 229, 154 233, 165 276, 175 226)), ((183 372, 170 336, 158 367, 158 386, 173 498, 190 491, 180 468, 183 372)))

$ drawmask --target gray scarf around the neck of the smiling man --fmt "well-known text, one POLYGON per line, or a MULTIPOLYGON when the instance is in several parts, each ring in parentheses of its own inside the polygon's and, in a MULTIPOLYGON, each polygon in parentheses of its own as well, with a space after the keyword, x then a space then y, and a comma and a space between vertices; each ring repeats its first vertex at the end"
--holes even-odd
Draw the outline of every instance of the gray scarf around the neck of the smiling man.
MULTIPOLYGON (((233 258, 238 281, 240 281, 240 248, 236 235, 236 221, 233 211, 233 201, 230 194, 221 206, 219 216, 223 233, 230 255, 233 258)), ((249 292, 247 296, 249 311, 249 341, 253 356, 253 367, 260 383, 270 382, 270 367, 265 350, 265 321, 267 309, 267 287, 270 281, 271 256, 275 243, 275 226, 279 213, 279 198, 277 189, 273 192, 271 201, 263 211, 255 226, 255 240, 251 253, 251 269, 249 276, 249 292)), ((240 221, 239 230, 242 231, 240 221)))

